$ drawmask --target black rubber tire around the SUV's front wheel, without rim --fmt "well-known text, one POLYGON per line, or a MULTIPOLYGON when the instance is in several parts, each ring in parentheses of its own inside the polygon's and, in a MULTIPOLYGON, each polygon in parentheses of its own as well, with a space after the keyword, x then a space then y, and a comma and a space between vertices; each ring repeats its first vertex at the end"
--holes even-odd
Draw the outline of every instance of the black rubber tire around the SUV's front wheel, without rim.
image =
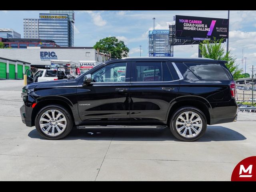
POLYGON ((49 140, 57 140, 57 139, 62 139, 64 137, 66 137, 70 131, 72 130, 73 128, 73 117, 72 115, 70 114, 69 110, 67 110, 66 108, 64 108, 63 106, 61 105, 48 105, 48 106, 45 106, 43 107, 39 112, 38 114, 36 115, 36 118, 35 118, 35 126, 36 126, 36 130, 39 132, 39 134, 46 138, 46 139, 49 139, 49 140), (59 110, 60 112, 63 113, 63 115, 65 116, 66 118, 66 128, 65 130, 58 136, 50 136, 50 135, 46 135, 44 132, 42 132, 42 130, 40 129, 40 117, 42 116, 42 114, 44 112, 46 112, 47 110, 50 110, 50 109, 55 109, 55 110, 59 110))

